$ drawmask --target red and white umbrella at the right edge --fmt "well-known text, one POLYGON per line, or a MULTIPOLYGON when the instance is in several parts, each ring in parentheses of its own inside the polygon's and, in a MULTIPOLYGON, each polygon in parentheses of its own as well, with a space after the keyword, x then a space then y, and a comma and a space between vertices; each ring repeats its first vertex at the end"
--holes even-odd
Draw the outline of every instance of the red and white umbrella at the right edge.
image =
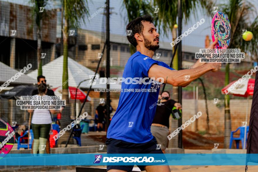
POLYGON ((248 97, 254 93, 254 79, 246 79, 241 84, 236 80, 222 88, 222 94, 230 93, 234 96, 248 97), (233 88, 235 84, 235 87, 233 88), (231 86, 231 87, 230 87, 231 86), (230 89, 231 88, 231 89, 230 89))

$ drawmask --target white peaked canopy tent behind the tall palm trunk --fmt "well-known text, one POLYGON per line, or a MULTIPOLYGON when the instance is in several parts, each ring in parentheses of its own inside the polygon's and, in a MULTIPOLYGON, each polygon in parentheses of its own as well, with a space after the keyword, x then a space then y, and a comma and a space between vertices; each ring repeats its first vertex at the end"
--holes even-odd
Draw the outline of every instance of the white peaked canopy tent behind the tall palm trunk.
MULTIPOLYGON (((42 67, 43 76, 46 77, 47 84, 52 88, 62 86, 62 76, 63 76, 63 56, 58 57, 57 59, 45 64, 42 67)), ((80 88, 90 88, 89 84, 89 75, 94 75, 95 72, 91 69, 79 64, 70 57, 68 57, 68 85, 72 87, 77 87, 79 83, 85 79, 87 81, 82 82, 80 88)), ((99 74, 97 74, 99 76, 99 74)), ((32 71, 28 74, 32 78, 37 78, 38 69, 32 71)), ((106 88, 106 84, 99 84, 97 81, 94 86, 91 88, 106 88)), ((110 84, 110 88, 120 89, 121 84, 110 84)))

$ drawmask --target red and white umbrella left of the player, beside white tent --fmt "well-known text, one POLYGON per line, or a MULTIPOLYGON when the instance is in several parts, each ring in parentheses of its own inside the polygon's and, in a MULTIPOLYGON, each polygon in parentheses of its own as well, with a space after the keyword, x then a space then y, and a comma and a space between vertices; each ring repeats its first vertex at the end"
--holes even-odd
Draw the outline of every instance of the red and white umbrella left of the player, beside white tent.
MULTIPOLYGON (((62 87, 61 86, 59 86, 57 88, 53 88, 52 90, 54 91, 56 96, 62 96, 62 87)), ((68 87, 68 92, 69 92, 69 98, 75 99, 76 88, 75 87, 68 87)), ((76 99, 83 102, 84 99, 86 98, 86 95, 87 94, 84 93, 84 91, 82 91, 79 88, 77 89, 76 99)), ((87 101, 91 101, 91 98, 89 96, 87 97, 87 101)))

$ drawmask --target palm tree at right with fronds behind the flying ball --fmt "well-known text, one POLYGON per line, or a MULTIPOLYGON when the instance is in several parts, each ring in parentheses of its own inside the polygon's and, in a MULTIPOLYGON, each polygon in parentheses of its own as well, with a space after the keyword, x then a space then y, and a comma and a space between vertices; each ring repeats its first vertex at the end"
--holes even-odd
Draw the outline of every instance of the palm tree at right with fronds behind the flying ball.
MULTIPOLYGON (((228 48, 240 48, 241 52, 252 54, 252 57, 257 58, 257 34, 258 34, 258 18, 251 21, 252 14, 255 14, 254 4, 244 0, 230 0, 228 4, 221 4, 220 11, 223 11, 230 20, 231 38, 228 48), (251 41, 242 39, 242 29, 251 31, 254 38, 251 41)), ((256 13, 257 16, 257 13, 256 13)), ((225 86, 229 84, 230 66, 226 64, 225 69, 225 86)), ((230 96, 225 95, 225 139, 224 148, 229 147, 229 139, 231 132, 230 118, 230 96)))

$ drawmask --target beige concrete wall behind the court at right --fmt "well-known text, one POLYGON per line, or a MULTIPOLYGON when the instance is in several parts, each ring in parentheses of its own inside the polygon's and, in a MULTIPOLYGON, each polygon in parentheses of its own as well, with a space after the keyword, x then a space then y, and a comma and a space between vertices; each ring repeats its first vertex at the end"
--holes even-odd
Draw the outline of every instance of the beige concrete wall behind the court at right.
MULTIPOLYGON (((208 100, 209 125, 211 134, 224 134, 224 99, 219 99, 217 104, 213 104, 213 100, 208 100)), ((249 117, 251 111, 252 100, 249 100, 247 125, 249 125, 249 117)), ((193 99, 183 99, 183 119, 182 123, 189 120, 195 113, 195 106, 193 99)), ((198 118, 198 130, 206 130, 207 113, 205 108, 205 101, 198 100, 198 111, 202 112, 202 116, 198 118)), ((230 100, 230 114, 232 131, 242 126, 247 114, 247 99, 230 100)), ((195 124, 192 123, 185 130, 196 131, 195 124)))

